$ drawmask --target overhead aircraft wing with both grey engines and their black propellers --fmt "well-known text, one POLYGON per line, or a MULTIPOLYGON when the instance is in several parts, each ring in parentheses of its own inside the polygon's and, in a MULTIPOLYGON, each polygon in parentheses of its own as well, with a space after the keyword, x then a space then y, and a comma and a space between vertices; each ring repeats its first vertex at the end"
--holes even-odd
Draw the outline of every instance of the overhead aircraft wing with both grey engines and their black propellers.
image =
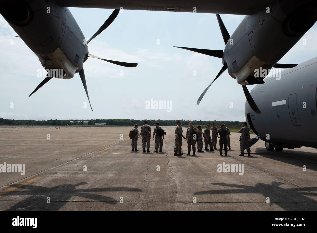
MULTIPOLYGON (((245 85, 264 83, 264 77, 255 76, 256 69, 296 66, 276 62, 317 20, 317 1, 313 0, 4 0, 0 13, 38 56, 42 66, 50 70, 63 69, 65 72, 63 76, 46 77, 31 95, 52 77, 68 79, 79 72, 89 100, 83 69, 88 57, 120 66, 137 66, 135 63, 106 60, 88 53, 87 44, 110 25, 119 9, 216 13, 225 43, 224 50, 181 48, 221 58, 223 67, 212 83, 228 69, 230 76, 242 85, 250 107, 257 114, 262 112, 245 85), (115 10, 95 35, 86 41, 67 7, 115 10), (48 9, 51 13, 48 13, 48 9), (230 36, 219 13, 247 16, 230 36)), ((197 104, 210 85, 198 98, 197 104)))

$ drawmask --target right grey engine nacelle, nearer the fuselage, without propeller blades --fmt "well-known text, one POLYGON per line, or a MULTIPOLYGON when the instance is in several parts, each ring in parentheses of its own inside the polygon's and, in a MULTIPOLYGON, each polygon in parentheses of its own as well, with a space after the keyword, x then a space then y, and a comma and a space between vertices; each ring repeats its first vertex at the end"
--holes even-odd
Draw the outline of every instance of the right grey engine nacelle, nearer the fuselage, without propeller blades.
POLYGON ((256 72, 271 69, 317 20, 316 2, 275 1, 254 15, 246 16, 223 52, 228 73, 239 84, 263 82, 256 72))

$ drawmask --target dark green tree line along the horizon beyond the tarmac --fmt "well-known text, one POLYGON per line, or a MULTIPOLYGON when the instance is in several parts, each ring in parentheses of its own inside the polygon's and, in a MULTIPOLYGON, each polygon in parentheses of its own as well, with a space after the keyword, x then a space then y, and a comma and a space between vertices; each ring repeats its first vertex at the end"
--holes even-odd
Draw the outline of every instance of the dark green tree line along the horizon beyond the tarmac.
MULTIPOLYGON (((88 125, 94 125, 95 123, 107 123, 107 125, 143 125, 145 120, 134 120, 134 119, 70 119, 70 120, 47 120, 47 121, 35 121, 35 120, 10 120, 0 118, 0 125, 83 125, 81 121, 88 121, 88 125), (74 121, 71 123, 70 121, 74 121)), ((159 122, 160 125, 176 125, 177 120, 148 120, 149 125, 155 125, 156 122, 159 122)), ((190 120, 181 120, 183 125, 188 125, 190 120)), ((241 125, 240 121, 194 121, 192 120, 194 125, 207 125, 215 122, 217 125, 221 123, 225 123, 226 125, 236 126, 241 125)))

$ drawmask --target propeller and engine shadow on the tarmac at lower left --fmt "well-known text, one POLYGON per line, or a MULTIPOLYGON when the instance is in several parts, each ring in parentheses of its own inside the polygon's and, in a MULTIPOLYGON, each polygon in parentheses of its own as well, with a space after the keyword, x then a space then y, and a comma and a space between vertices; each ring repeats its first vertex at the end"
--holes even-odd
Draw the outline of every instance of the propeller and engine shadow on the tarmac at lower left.
POLYGON ((9 185, 18 189, 4 193, 2 196, 29 197, 19 201, 5 211, 58 211, 66 203, 73 201, 71 200, 72 197, 87 198, 97 202, 107 202, 110 205, 116 205, 118 200, 90 192, 142 192, 141 189, 129 187, 76 188, 86 184, 87 182, 81 182, 75 185, 64 184, 51 188, 35 185, 23 185, 21 187, 19 184, 9 185), (50 203, 47 203, 48 197, 50 198, 50 203))

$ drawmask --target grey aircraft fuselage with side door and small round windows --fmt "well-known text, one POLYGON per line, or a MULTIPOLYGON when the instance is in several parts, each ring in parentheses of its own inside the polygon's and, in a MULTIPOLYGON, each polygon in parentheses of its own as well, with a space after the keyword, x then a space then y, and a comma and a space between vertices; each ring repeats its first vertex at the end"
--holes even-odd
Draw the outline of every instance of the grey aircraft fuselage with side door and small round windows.
POLYGON ((262 114, 245 103, 252 131, 275 145, 317 148, 317 57, 264 81, 251 91, 262 114))

